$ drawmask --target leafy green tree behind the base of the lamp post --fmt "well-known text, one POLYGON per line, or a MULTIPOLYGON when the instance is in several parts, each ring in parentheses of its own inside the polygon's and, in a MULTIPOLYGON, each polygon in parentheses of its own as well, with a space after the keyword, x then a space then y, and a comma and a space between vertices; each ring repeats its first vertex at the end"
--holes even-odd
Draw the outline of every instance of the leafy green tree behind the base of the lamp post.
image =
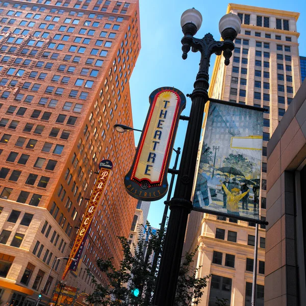
MULTIPOLYGON (((127 240, 124 237, 119 237, 123 250, 120 266, 116 269, 112 258, 97 261, 97 266, 107 277, 108 284, 98 284, 94 276, 91 275, 96 287, 88 297, 88 301, 101 306, 150 305, 157 272, 151 271, 148 259, 163 245, 165 236, 163 233, 163 231, 157 230, 153 234, 148 223, 147 226, 139 226, 137 244, 133 245, 134 255, 127 240), (138 296, 133 294, 135 288, 139 289, 138 296)), ((203 294, 203 288, 207 286, 207 279, 210 275, 196 278, 200 267, 191 267, 196 251, 197 249, 192 253, 186 253, 184 263, 181 266, 176 291, 175 305, 177 306, 190 305, 193 299, 194 304, 197 305, 203 294)), ((88 271, 88 273, 90 272, 88 271)))

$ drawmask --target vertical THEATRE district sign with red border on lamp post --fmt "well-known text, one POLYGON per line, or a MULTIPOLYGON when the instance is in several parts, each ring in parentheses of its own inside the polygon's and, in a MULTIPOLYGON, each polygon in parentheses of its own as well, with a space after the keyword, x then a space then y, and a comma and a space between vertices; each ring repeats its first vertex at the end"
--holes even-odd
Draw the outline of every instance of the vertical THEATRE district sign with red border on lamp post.
POLYGON ((131 196, 155 201, 168 190, 167 171, 186 98, 176 88, 161 87, 150 94, 149 103, 136 155, 125 175, 124 185, 131 196))

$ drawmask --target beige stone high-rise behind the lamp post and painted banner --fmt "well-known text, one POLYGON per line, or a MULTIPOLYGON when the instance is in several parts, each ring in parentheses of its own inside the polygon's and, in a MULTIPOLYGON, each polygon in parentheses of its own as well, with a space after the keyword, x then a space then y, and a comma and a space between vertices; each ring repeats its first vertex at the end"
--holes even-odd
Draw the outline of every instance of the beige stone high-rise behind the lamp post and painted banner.
MULTIPOLYGON (((227 13, 238 14, 241 32, 231 63, 217 57, 210 97, 264 107, 263 163, 260 208, 266 217, 267 143, 300 87, 298 53, 299 13, 229 4, 227 13)), ((252 207, 251 207, 252 209, 252 207)), ((265 228, 259 228, 257 306, 264 304, 265 228)), ((249 306, 254 252, 254 224, 192 212, 184 251, 199 245, 197 266, 201 276, 212 274, 201 306, 214 306, 216 297, 231 306, 249 306)), ((267 269, 266 269, 267 270, 267 269)))

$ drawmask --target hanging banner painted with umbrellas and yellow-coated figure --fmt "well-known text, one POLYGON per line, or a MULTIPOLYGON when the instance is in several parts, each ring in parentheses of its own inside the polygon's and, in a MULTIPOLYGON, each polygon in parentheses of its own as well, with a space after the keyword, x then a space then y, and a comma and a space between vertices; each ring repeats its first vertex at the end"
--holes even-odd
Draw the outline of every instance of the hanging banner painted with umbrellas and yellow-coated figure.
POLYGON ((210 102, 193 193, 193 209, 258 221, 263 109, 210 102))

